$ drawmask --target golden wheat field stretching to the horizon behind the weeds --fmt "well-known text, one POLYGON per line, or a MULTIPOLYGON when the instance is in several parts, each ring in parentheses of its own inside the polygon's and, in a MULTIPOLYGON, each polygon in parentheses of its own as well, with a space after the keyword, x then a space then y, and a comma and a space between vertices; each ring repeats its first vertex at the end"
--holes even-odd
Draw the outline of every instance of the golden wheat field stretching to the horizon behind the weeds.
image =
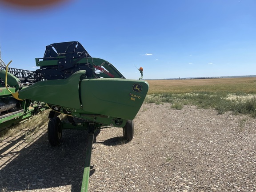
POLYGON ((153 93, 187 93, 187 92, 242 92, 256 93, 256 77, 220 78, 220 79, 186 79, 186 80, 147 80, 148 94, 153 93))

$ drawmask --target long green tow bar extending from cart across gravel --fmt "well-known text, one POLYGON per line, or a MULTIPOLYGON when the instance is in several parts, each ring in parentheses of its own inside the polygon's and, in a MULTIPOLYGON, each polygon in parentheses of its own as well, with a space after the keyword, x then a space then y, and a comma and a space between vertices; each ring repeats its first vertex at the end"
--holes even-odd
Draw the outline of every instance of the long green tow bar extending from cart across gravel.
POLYGON ((91 157, 92 157, 92 143, 93 143, 93 138, 94 138, 94 132, 95 132, 94 123, 89 123, 88 146, 87 146, 87 150, 86 150, 86 158, 85 158, 85 164, 84 164, 84 175, 83 175, 81 192, 88 191, 88 184, 89 184, 89 177, 90 177, 90 165, 91 165, 91 157))

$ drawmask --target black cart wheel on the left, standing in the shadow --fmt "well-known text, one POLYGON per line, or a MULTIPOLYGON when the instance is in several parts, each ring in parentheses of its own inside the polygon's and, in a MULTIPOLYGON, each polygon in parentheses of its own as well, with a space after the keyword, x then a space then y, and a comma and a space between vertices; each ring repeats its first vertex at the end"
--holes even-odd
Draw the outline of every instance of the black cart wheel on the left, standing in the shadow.
POLYGON ((62 128, 59 117, 54 117, 48 123, 48 140, 52 146, 60 145, 62 128))

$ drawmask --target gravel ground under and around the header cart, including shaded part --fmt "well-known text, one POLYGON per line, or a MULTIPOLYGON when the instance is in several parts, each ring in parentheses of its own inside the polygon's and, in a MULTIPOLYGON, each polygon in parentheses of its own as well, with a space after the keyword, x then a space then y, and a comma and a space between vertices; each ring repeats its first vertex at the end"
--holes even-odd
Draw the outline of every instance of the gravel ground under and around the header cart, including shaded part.
MULTIPOLYGON (((96 133, 90 192, 256 191, 256 119, 143 104, 134 124, 128 144, 122 128, 96 133)), ((0 189, 80 191, 86 132, 64 130, 56 148, 48 144, 46 126, 30 143, 24 132, 0 143, 0 189)))

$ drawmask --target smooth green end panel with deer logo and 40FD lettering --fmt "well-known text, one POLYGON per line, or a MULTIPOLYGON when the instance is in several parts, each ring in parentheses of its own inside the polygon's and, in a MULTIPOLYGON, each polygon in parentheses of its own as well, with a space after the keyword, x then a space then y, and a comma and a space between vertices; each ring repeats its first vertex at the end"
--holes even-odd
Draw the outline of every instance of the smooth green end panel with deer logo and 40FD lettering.
POLYGON ((133 120, 143 104, 148 87, 148 83, 143 80, 82 80, 82 107, 90 113, 133 120))

